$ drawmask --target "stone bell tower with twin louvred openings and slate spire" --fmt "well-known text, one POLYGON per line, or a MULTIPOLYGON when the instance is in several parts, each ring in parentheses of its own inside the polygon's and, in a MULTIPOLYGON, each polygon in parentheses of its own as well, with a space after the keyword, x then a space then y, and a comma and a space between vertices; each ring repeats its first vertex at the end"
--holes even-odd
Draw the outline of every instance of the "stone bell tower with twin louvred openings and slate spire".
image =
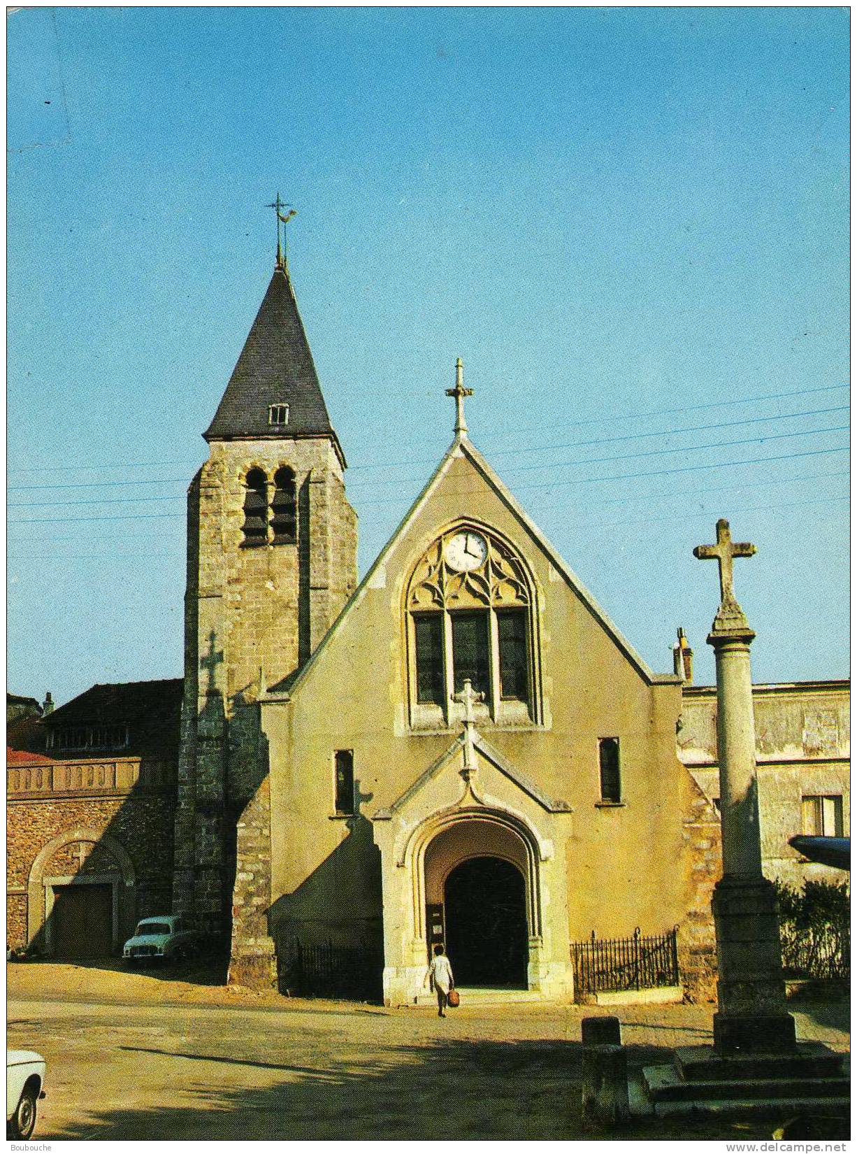
POLYGON ((235 827, 268 772, 256 700, 307 660, 356 585, 345 457, 278 252, 188 489, 173 908, 225 934, 235 827))

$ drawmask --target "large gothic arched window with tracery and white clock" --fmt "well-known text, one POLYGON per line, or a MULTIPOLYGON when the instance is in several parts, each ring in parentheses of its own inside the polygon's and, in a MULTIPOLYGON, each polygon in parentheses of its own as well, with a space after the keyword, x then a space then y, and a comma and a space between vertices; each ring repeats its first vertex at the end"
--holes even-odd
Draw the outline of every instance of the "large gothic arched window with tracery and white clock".
POLYGON ((407 591, 415 725, 460 715, 465 681, 494 721, 539 720, 534 600, 524 562, 493 533, 458 525, 429 546, 407 591))

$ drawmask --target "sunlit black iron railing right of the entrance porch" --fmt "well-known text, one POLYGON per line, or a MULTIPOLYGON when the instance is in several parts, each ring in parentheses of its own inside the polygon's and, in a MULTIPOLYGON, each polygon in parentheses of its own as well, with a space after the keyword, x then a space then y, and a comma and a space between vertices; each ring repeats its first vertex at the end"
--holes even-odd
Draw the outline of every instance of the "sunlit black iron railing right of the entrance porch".
POLYGON ((593 930, 587 942, 572 942, 571 957, 578 994, 678 986, 677 927, 656 935, 637 927, 630 938, 596 938, 593 930))

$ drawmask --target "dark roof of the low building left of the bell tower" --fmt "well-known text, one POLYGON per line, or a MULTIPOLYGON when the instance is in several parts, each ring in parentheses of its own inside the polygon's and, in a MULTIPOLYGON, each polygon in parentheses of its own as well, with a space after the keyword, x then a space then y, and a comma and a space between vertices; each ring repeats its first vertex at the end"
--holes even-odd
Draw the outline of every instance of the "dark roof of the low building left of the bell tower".
MULTIPOLYGON (((127 725, 129 743, 122 747, 122 754, 178 754, 183 684, 181 677, 175 677, 166 681, 92 685, 45 718, 22 718, 12 724, 6 735, 8 750, 18 754, 47 752, 51 760, 104 756, 104 751, 99 755, 96 750, 91 755, 84 749, 66 749, 62 752, 59 749, 57 752, 47 750, 46 736, 52 729, 72 726, 127 725)), ((13 760, 20 759, 13 757, 13 760)))

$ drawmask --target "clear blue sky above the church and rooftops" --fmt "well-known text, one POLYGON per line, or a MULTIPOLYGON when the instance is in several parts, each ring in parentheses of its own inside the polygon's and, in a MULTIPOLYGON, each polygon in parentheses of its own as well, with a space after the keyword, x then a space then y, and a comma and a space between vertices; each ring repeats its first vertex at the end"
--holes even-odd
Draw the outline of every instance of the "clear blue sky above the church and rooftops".
POLYGON ((366 570, 471 435, 657 670, 727 516, 758 681, 848 672, 844 8, 8 17, 8 679, 181 673, 183 494, 290 263, 366 570))

